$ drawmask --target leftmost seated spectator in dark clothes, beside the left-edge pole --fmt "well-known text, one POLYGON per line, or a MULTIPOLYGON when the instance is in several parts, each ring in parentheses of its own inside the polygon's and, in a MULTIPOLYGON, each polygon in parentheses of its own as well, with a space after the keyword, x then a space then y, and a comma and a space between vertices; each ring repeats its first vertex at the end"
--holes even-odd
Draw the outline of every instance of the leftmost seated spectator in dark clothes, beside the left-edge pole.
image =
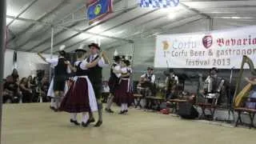
POLYGON ((3 102, 18 103, 22 98, 22 94, 18 87, 18 71, 13 70, 13 73, 6 78, 3 86, 3 102))

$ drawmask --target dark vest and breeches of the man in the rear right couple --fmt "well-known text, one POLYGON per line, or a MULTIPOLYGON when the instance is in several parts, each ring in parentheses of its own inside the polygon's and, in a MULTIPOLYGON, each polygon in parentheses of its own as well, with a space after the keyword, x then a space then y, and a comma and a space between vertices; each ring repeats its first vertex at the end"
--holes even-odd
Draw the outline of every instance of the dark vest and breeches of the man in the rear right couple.
POLYGON ((109 82, 108 82, 111 94, 114 94, 114 90, 117 89, 118 82, 119 82, 119 78, 117 77, 116 74, 114 74, 114 70, 113 69, 114 69, 115 66, 118 66, 118 64, 113 63, 112 66, 111 66, 111 69, 110 69, 110 79, 109 79, 109 82))

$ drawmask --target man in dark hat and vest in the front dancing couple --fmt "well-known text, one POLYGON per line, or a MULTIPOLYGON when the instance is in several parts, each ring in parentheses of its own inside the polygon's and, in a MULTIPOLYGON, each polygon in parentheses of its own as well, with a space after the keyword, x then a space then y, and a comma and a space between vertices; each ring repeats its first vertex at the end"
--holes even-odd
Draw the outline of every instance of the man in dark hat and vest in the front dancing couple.
MULTIPOLYGON (((100 47, 96 43, 91 43, 89 45, 90 56, 86 59, 87 62, 94 62, 99 57, 100 47)), ((102 90, 102 67, 109 66, 109 59, 106 57, 101 58, 98 61, 98 65, 92 68, 89 68, 89 79, 94 87, 95 97, 98 104, 98 122, 95 124, 95 127, 102 125, 102 102, 101 102, 101 90, 102 90)), ((94 122, 94 116, 90 113, 90 122, 94 122)))

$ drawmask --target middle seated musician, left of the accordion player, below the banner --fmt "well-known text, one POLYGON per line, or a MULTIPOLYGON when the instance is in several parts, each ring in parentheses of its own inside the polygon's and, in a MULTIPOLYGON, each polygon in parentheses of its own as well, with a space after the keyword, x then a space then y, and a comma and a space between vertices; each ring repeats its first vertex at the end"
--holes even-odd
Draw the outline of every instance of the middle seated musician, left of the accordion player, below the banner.
POLYGON ((166 73, 166 99, 177 98, 177 84, 178 77, 174 74, 174 70, 170 69, 169 73, 166 73))

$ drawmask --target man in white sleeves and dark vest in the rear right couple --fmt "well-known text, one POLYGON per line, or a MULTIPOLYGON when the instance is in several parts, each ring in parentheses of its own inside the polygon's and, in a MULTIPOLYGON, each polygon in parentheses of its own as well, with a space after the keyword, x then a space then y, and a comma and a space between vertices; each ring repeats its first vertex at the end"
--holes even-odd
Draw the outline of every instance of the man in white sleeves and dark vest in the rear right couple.
POLYGON ((106 106, 106 112, 108 113, 114 113, 113 110, 110 109, 113 103, 114 93, 117 89, 119 78, 122 75, 121 73, 121 67, 120 67, 121 58, 119 56, 114 56, 114 63, 111 66, 110 69, 110 80, 109 80, 109 86, 110 86, 110 96, 107 100, 107 106, 106 106))

